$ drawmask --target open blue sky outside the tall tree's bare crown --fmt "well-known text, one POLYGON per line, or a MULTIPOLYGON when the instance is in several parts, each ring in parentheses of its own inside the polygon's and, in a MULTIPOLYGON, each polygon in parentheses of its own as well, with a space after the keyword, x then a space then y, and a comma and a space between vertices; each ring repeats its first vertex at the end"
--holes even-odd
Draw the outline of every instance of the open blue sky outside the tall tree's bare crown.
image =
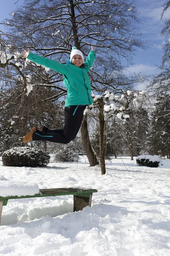
MULTIPOLYGON (((163 19, 161 20, 161 12, 163 10, 163 3, 165 0, 136 0, 136 6, 139 10, 139 31, 142 32, 141 38, 146 40, 147 50, 136 49, 136 56, 133 58, 135 63, 133 66, 128 67, 128 71, 135 73, 145 73, 146 75, 156 74, 156 65, 161 64, 161 57, 163 55, 162 46, 169 38, 160 36, 161 29, 164 25, 164 20, 170 17, 170 10, 168 10, 163 19)), ((0 0, 0 20, 9 17, 16 6, 20 6, 24 0, 0 0), (16 4, 15 4, 16 3, 16 4)), ((0 30, 4 27, 0 25, 0 30)))

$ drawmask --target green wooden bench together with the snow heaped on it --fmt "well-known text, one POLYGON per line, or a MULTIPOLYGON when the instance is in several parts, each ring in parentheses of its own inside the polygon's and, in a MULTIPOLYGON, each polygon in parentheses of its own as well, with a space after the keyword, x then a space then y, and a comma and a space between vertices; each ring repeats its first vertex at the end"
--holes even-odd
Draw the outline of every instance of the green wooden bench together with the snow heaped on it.
POLYGON ((9 181, 0 176, 0 221, 3 206, 6 206, 8 200, 19 198, 36 198, 57 195, 74 196, 74 212, 82 210, 84 207, 91 207, 91 199, 96 189, 87 188, 57 188, 57 189, 39 189, 35 183, 9 181))

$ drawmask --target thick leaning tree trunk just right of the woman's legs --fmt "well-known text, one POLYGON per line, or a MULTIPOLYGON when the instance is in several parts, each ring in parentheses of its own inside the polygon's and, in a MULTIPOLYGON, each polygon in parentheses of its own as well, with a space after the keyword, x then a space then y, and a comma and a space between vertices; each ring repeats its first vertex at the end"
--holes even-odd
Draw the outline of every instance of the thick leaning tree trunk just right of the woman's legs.
POLYGON ((97 164, 99 164, 99 162, 97 161, 97 156, 94 153, 94 150, 91 146, 90 137, 88 134, 87 116, 84 116, 83 121, 82 121, 81 135, 82 135, 82 143, 85 148, 85 153, 88 157, 90 166, 96 166, 97 164))

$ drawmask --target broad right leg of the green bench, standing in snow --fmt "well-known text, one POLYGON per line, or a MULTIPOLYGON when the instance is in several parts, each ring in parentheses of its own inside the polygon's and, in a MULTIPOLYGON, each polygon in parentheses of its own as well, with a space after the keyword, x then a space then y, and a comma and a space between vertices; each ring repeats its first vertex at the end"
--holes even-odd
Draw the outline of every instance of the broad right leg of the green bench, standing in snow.
POLYGON ((90 206, 91 207, 92 194, 93 193, 91 193, 89 197, 74 195, 73 211, 74 212, 78 212, 78 211, 81 211, 86 206, 90 206))

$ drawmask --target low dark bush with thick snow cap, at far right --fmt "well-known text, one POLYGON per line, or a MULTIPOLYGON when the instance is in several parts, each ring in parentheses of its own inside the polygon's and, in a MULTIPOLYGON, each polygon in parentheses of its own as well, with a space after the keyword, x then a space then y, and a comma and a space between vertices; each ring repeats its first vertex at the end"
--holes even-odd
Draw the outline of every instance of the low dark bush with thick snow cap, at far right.
POLYGON ((158 167, 161 164, 161 159, 151 155, 140 155, 136 157, 136 163, 139 166, 158 167))

